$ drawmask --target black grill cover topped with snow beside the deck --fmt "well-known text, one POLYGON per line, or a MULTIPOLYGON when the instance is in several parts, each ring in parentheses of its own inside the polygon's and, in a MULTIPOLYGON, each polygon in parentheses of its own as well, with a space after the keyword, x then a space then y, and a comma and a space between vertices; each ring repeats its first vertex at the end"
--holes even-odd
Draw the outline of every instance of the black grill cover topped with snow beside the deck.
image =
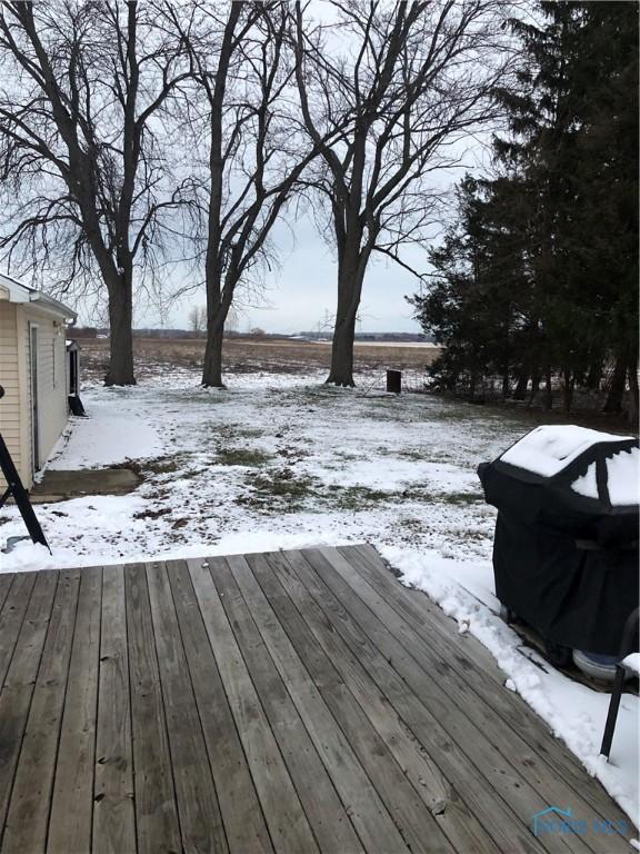
POLYGON ((500 602, 556 644, 617 655, 639 595, 638 439, 537 427, 478 475, 500 602))

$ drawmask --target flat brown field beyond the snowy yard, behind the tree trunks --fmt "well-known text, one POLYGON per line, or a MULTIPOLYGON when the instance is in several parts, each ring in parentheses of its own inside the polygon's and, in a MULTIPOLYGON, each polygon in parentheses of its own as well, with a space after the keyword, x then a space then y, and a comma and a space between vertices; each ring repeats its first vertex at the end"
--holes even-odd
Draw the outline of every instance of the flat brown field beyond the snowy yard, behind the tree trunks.
MULTIPOLYGON (((84 379, 100 379, 106 370, 109 341, 80 339, 84 379)), ((356 346, 356 370, 371 371, 394 368, 413 378, 423 374, 436 359, 437 347, 403 345, 356 346)), ((193 338, 136 338, 136 370, 140 379, 158 374, 159 369, 202 367, 204 341, 193 338)), ((308 341, 230 338, 224 342, 224 367, 236 374, 307 374, 329 368, 331 347, 308 341)))

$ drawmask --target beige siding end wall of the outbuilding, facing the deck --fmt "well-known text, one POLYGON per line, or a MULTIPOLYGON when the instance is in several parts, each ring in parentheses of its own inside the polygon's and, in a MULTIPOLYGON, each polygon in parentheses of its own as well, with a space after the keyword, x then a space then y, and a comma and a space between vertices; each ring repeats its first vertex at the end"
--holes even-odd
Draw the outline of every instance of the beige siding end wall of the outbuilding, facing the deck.
MULTIPOLYGON (((20 374, 18 352, 17 306, 0 299, 0 433, 21 477, 28 474, 29 459, 23 458, 20 418, 20 374), (24 470, 27 469, 27 471, 24 470)), ((0 473, 0 493, 7 484, 0 473)))

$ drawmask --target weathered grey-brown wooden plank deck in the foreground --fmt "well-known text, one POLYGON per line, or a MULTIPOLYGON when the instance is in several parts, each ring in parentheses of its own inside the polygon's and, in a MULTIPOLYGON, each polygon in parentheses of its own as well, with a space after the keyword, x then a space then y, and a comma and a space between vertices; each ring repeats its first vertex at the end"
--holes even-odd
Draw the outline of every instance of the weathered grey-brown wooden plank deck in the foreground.
POLYGON ((0 605, 2 852, 630 851, 371 547, 0 575, 0 605), (536 837, 548 806, 587 833, 536 837))

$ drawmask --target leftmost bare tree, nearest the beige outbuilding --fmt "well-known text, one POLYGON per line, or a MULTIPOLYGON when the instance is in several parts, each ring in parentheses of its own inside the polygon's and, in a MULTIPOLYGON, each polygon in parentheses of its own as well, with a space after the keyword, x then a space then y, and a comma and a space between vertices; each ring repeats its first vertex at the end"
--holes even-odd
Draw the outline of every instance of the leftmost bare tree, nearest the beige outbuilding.
POLYGON ((163 108, 190 69, 157 17, 153 3, 114 0, 4 2, 0 14, 0 169, 13 200, 0 247, 9 260, 30 252, 68 289, 107 289, 108 385, 136 381, 134 272, 153 274, 183 202, 163 108))

